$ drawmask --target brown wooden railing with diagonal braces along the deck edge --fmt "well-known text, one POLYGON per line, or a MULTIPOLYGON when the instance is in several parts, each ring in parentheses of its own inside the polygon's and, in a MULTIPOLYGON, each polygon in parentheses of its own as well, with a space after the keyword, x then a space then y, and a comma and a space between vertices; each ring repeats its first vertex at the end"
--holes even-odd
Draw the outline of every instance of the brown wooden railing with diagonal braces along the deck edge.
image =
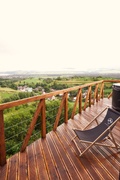
MULTIPOLYGON (((73 110, 71 113, 71 118, 74 119, 74 115, 76 113, 77 106, 78 106, 78 112, 81 113, 82 110, 85 110, 87 106, 90 107, 91 104, 94 105, 95 102, 100 101, 100 99, 104 97, 104 83, 107 83, 107 82, 114 83, 114 82, 120 82, 120 80, 95 81, 92 83, 75 86, 75 87, 71 87, 71 88, 67 88, 67 89, 63 89, 63 90, 58 90, 58 91, 46 93, 46 94, 39 95, 39 96, 34 96, 34 97, 25 98, 25 99, 21 99, 21 100, 9 102, 9 103, 0 104, 0 166, 3 166, 6 163, 6 147, 5 147, 6 145, 5 145, 5 130, 4 130, 4 114, 3 114, 5 109, 12 108, 15 106, 20 106, 20 105, 27 104, 27 103, 34 102, 34 101, 39 101, 37 109, 31 120, 30 126, 28 128, 27 134, 24 138, 24 141, 23 141, 23 144, 22 144, 22 147, 20 150, 21 152, 23 152, 26 149, 26 146, 28 145, 28 141, 34 130, 34 127, 37 122, 39 114, 41 114, 41 117, 42 117, 41 118, 42 119, 41 120, 42 121, 41 122, 41 124, 42 124, 41 137, 42 138, 46 137, 46 104, 45 104, 45 100, 47 98, 50 98, 52 96, 57 96, 59 94, 63 94, 61 104, 59 106, 58 113, 56 115, 56 119, 55 119, 54 126, 53 126, 53 130, 55 131, 57 129, 57 126, 59 123, 62 109, 64 109, 64 122, 65 123, 68 122, 68 93, 70 93, 71 91, 77 91, 76 100, 74 102, 74 107, 73 107, 73 110), (84 102, 84 106, 83 106, 82 105, 82 103, 83 103, 82 90, 84 88, 87 88, 87 93, 86 93, 86 98, 85 98, 85 102, 84 102), (92 88, 94 89, 94 92, 93 92, 92 88)), ((111 91, 112 91, 112 89, 111 89, 111 91)))

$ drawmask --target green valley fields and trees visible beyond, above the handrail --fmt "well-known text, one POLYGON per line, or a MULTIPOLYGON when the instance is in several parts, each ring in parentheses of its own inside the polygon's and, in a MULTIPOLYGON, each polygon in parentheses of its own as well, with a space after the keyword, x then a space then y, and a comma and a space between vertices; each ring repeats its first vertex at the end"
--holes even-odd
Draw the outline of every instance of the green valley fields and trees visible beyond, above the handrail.
MULTIPOLYGON (((79 76, 73 76, 73 77, 47 77, 47 78, 41 78, 41 77, 30 77, 30 78, 24 78, 24 79, 17 79, 17 80, 0 80, 0 103, 11 100, 15 100, 17 97, 17 94, 20 93, 19 90, 17 90, 18 86, 27 86, 32 87, 34 95, 42 94, 43 90, 45 92, 51 92, 52 89, 54 90, 60 90, 60 89, 66 89, 72 86, 79 86, 85 83, 90 83, 93 81, 98 81, 105 79, 104 77, 79 77, 79 76), (38 89, 37 92, 35 89, 38 89), (12 97, 12 98, 11 98, 12 97), (13 98, 14 97, 14 98, 13 98), (11 98, 11 100, 10 100, 11 98)), ((109 78, 111 79, 111 78, 109 78)), ((111 83, 107 83, 105 85, 105 94, 109 95, 111 92, 111 83)), ((27 97, 29 95, 27 94, 27 97)), ((31 95, 30 95, 31 96, 31 95)), ((21 97, 21 96, 20 96, 21 97)), ((26 95, 25 95, 26 97, 26 95)), ((24 96, 22 96, 24 98, 24 96)), ((19 97, 17 97, 19 99, 19 97)))

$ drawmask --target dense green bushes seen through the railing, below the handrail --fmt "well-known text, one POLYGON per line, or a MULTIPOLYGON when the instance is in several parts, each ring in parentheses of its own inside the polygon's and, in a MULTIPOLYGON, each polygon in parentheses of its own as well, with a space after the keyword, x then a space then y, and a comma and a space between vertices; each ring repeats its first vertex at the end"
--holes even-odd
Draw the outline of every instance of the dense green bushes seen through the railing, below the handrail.
MULTIPOLYGON (((46 102, 46 124, 47 132, 51 131, 55 122, 56 114, 60 106, 60 100, 46 102)), ((11 156, 20 150, 21 143, 23 142, 27 129, 36 111, 37 103, 31 103, 27 105, 21 105, 11 108, 10 111, 4 111, 5 117, 5 137, 6 137, 6 149, 7 155, 11 156)), ((72 106, 70 104, 68 114, 71 114, 72 106)), ((63 118, 63 114, 61 119, 63 118)), ((60 124, 63 123, 63 120, 60 124)), ((30 139, 30 143, 40 137, 41 131, 41 116, 39 116, 33 136, 30 139)))

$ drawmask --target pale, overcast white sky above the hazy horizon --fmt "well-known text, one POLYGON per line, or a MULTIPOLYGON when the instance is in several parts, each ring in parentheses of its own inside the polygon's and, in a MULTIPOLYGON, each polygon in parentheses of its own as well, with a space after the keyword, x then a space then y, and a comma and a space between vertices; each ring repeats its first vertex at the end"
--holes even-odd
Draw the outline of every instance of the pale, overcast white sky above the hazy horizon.
POLYGON ((0 1, 0 72, 120 68, 120 0, 0 1))

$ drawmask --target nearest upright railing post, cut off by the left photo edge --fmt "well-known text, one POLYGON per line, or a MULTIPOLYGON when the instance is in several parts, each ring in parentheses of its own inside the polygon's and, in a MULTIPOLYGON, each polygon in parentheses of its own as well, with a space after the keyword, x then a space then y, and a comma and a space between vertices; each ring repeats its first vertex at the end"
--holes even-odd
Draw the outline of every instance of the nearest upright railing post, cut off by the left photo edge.
POLYGON ((3 110, 0 111, 0 166, 6 163, 5 132, 3 110))

